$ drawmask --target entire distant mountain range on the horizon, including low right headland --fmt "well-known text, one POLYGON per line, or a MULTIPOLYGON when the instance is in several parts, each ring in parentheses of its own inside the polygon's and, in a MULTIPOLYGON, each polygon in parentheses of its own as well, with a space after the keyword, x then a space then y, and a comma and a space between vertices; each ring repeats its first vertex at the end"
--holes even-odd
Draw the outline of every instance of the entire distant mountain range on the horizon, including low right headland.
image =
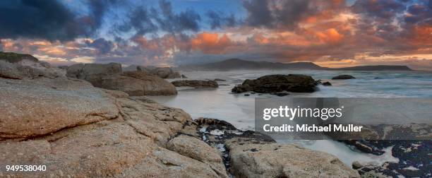
POLYGON ((243 59, 227 59, 208 64, 194 64, 179 66, 179 70, 202 71, 232 71, 232 70, 260 70, 260 69, 308 69, 308 70, 335 70, 335 71, 412 71, 408 66, 352 66, 344 68, 327 68, 313 64, 313 62, 280 63, 269 61, 246 61, 243 59))

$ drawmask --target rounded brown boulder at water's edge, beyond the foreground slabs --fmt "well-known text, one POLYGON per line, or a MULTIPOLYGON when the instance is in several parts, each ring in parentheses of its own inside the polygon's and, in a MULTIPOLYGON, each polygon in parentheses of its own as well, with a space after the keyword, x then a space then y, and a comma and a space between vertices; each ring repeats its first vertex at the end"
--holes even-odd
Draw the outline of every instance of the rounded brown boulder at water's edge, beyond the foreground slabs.
POLYGON ((121 90, 132 96, 176 95, 174 85, 157 76, 142 71, 126 71, 101 79, 100 88, 121 90))

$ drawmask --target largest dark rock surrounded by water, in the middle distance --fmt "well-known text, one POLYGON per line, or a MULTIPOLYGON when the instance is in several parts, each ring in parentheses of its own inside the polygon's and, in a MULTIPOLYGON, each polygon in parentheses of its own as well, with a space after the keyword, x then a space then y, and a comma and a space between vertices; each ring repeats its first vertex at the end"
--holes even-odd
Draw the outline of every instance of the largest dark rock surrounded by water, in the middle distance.
POLYGON ((282 91, 312 93, 316 90, 316 81, 311 76, 299 74, 270 75, 257 79, 246 79, 241 85, 232 88, 232 93, 253 91, 256 93, 280 93, 282 91))

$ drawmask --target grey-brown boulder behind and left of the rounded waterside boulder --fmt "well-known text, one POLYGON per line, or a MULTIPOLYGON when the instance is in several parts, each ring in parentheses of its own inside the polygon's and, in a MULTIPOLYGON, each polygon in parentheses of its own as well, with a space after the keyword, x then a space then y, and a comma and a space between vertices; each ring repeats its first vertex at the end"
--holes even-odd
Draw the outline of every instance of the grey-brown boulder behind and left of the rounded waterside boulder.
POLYGON ((102 78, 121 73, 121 64, 74 64, 66 70, 66 76, 89 81, 95 87, 102 86, 102 78))

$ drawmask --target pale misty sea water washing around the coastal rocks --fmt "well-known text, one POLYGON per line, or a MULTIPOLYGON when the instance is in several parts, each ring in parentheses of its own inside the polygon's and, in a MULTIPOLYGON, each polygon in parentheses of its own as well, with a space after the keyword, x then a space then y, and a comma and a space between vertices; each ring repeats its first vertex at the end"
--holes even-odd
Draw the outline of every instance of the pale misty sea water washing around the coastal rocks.
MULTIPOLYGON (((255 97, 278 97, 275 95, 233 94, 234 85, 246 79, 254 79, 270 74, 305 74, 315 80, 330 81, 332 86, 318 85, 314 93, 290 93, 284 97, 431 97, 432 73, 428 71, 188 71, 181 72, 188 80, 213 80, 220 78, 220 87, 215 89, 177 88, 178 95, 152 96, 152 100, 169 107, 184 109, 193 119, 208 117, 229 121, 238 129, 254 129, 255 97), (333 76, 352 75, 355 80, 331 80, 333 76)), ((174 79, 179 80, 179 79, 174 79)), ((173 81, 173 80, 170 80, 173 81)), ((392 157, 391 148, 384 155, 371 155, 356 151, 351 146, 331 140, 321 141, 289 141, 277 140, 280 143, 297 143, 306 148, 320 150, 336 155, 342 162, 351 165, 354 160, 360 162, 385 161, 397 162, 392 157)))

